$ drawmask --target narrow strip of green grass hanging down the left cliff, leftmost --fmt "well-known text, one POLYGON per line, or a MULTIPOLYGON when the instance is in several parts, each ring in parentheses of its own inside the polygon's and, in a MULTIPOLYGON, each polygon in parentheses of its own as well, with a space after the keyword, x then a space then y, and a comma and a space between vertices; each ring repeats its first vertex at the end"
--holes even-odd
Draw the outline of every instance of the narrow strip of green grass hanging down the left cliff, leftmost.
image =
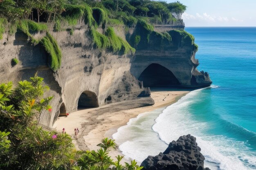
POLYGON ((57 71, 61 67, 61 49, 56 40, 47 32, 46 36, 42 38, 41 43, 49 54, 49 67, 52 71, 57 71))

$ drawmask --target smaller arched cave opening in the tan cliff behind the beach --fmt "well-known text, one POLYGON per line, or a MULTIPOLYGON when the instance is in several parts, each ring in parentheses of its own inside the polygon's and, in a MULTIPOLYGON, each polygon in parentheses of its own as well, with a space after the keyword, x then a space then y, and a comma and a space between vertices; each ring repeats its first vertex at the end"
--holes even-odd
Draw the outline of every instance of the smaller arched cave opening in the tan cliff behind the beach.
POLYGON ((78 109, 99 107, 98 97, 92 91, 84 91, 78 100, 78 109))

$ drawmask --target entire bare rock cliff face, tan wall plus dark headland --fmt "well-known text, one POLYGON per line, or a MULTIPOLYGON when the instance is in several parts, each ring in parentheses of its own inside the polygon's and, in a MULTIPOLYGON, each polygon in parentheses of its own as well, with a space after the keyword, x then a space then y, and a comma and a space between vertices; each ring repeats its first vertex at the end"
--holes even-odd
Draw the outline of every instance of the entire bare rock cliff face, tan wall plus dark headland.
MULTIPOLYGON (((115 32, 120 37, 129 39, 130 34, 126 34, 123 27, 115 27, 115 32)), ((18 82, 29 79, 36 73, 43 77, 50 87, 46 95, 54 95, 52 113, 46 111, 40 119, 40 123, 49 127, 61 113, 76 111, 78 106, 97 107, 150 96, 150 90, 144 88, 142 81, 146 83, 146 87, 162 85, 150 84, 153 81, 147 78, 150 73, 157 81, 159 77, 167 78, 168 83, 164 85, 173 85, 173 82, 189 87, 210 84, 209 75, 195 69, 198 62, 192 45, 175 45, 178 43, 176 40, 172 40, 171 44, 163 44, 162 40, 151 37, 149 42, 141 40, 136 45, 135 55, 120 55, 95 48, 84 25, 77 26, 73 35, 68 31, 50 33, 57 40, 63 55, 61 68, 57 72, 48 67, 45 49, 40 44, 32 45, 24 33, 17 32, 12 36, 4 34, 0 40, 0 82, 18 82), (160 48, 155 44, 160 44, 160 48), (12 58, 17 58, 19 64, 11 66, 12 58), (152 69, 157 74, 154 71, 142 74, 150 64, 158 64, 160 72, 153 65, 152 69)), ((36 33, 34 37, 44 35, 45 33, 36 33)), ((152 100, 148 103, 152 104, 152 100)))

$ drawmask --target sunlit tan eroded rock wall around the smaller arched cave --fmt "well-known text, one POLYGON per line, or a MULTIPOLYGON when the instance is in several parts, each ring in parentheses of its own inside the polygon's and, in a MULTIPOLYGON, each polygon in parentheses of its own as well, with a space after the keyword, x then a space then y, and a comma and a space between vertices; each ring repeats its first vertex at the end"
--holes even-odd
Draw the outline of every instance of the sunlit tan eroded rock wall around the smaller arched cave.
MULTIPOLYGON (((119 34, 124 37, 123 29, 120 30, 119 34)), ((50 33, 63 55, 61 68, 56 73, 47 66, 44 48, 40 44, 33 46, 24 33, 4 34, 0 40, 1 82, 13 81, 15 84, 37 73, 50 87, 45 95, 54 95, 52 112, 43 113, 41 124, 51 127, 59 116, 60 108, 67 113, 76 111, 84 91, 94 93, 99 106, 135 99, 144 91, 142 83, 130 74, 131 54, 118 55, 95 48, 86 27, 75 29, 73 35, 67 31, 50 33), (19 64, 11 66, 12 58, 17 58, 19 64)))

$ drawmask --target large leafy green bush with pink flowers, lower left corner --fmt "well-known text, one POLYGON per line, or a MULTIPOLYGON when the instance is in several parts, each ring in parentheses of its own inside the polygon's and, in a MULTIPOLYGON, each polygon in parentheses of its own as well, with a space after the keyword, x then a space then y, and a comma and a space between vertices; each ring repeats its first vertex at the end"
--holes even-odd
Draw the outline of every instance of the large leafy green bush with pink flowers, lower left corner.
POLYGON ((11 82, 0 84, 0 169, 65 170, 74 165, 71 137, 37 125, 43 114, 51 114, 52 97, 43 98, 48 89, 37 76, 16 88, 11 82))

